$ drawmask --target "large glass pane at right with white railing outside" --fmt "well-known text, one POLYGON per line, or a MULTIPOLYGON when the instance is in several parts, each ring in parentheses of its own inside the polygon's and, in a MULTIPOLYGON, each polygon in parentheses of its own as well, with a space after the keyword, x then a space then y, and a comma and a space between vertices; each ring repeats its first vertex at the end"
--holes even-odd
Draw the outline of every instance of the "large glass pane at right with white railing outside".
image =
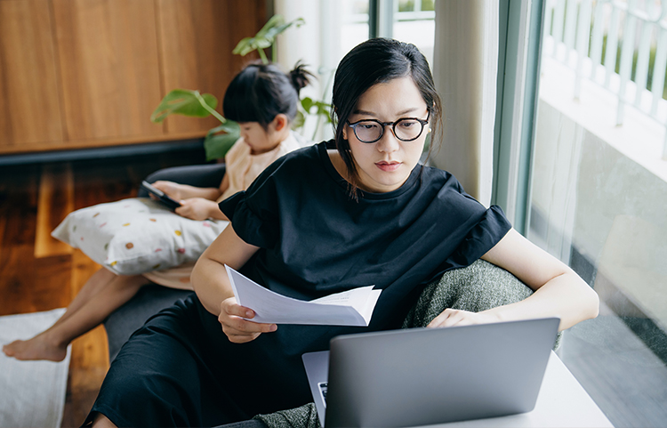
POLYGON ((616 426, 665 426, 667 2, 546 3, 528 238, 601 301, 559 356, 616 426))

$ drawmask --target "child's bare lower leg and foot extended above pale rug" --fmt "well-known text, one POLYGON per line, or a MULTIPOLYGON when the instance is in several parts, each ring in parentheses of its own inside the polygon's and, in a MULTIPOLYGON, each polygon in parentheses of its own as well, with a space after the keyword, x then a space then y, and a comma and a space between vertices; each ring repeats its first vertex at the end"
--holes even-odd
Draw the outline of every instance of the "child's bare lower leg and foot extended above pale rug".
MULTIPOLYGON (((44 332, 26 341, 17 340, 3 346, 4 353, 15 359, 49 359, 61 361, 67 355, 68 344, 76 337, 101 324, 108 315, 116 311, 148 280, 141 275, 115 276, 92 298, 73 311, 66 319, 49 327, 44 332)), ((64 316, 63 316, 64 317, 64 316)))

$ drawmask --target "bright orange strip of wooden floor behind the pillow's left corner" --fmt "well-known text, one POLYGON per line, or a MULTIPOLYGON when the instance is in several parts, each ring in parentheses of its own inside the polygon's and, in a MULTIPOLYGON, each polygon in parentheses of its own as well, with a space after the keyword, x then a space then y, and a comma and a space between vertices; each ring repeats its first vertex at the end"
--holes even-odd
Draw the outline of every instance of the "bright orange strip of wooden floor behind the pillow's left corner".
POLYGON ((74 177, 69 163, 44 165, 39 181, 35 232, 35 258, 72 254, 72 247, 51 236, 74 211, 74 177))

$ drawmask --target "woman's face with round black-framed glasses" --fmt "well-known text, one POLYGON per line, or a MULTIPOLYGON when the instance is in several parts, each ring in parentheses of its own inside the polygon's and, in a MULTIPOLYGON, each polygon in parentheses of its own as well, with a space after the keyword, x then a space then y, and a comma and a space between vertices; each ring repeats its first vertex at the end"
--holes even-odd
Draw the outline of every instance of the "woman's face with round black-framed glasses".
MULTIPOLYGON (((426 102, 410 77, 399 77, 387 83, 371 86, 359 97, 357 108, 348 121, 375 119, 395 122, 403 117, 428 117, 426 102)), ((372 143, 359 141, 350 125, 345 125, 343 137, 350 141, 352 158, 358 170, 358 187, 374 193, 397 190, 406 182, 414 166, 419 162, 428 133, 414 141, 400 141, 391 125, 384 127, 382 138, 372 143)))

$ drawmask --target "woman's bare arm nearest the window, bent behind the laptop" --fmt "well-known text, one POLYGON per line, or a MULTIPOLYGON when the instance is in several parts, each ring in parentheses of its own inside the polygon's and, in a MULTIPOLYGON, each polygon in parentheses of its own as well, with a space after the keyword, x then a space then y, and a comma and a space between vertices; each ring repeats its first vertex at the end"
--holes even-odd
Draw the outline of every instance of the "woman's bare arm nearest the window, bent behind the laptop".
POLYGON ((599 298, 595 291, 565 263, 516 230, 510 230, 482 259, 510 271, 533 288, 534 294, 524 301, 477 314, 448 309, 433 319, 430 327, 558 317, 559 330, 564 330, 598 315, 599 298))

